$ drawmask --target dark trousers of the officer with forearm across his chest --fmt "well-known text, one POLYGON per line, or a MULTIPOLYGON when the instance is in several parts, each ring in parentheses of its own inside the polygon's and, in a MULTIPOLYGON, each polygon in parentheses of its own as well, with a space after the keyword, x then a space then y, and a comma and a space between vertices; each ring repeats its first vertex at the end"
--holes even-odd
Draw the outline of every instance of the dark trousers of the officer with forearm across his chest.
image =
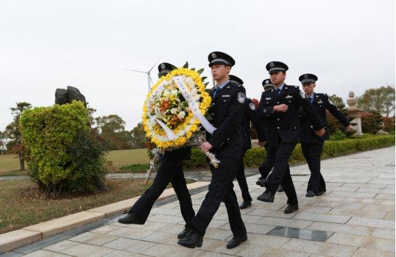
MULTIPOLYGON (((270 190, 274 195, 282 185, 284 193, 288 198, 288 204, 298 204, 297 194, 291 179, 289 158, 296 143, 279 143, 277 148, 269 147, 266 159, 273 161, 274 170, 268 175, 266 179, 267 189, 270 190)), ((269 163, 270 163, 269 161, 269 163)))

